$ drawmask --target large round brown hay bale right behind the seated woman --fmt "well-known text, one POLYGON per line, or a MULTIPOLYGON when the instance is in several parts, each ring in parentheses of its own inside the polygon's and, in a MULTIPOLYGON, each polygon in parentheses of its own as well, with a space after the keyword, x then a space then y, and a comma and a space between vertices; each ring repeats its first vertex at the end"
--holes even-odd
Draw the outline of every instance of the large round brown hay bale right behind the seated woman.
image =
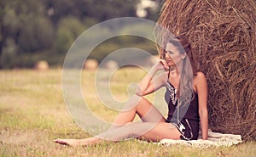
MULTIPOLYGON (((255 10, 255 0, 166 0, 158 20, 195 48, 207 76, 212 130, 245 140, 256 139, 255 10)), ((156 37, 165 44, 164 31, 156 37)))

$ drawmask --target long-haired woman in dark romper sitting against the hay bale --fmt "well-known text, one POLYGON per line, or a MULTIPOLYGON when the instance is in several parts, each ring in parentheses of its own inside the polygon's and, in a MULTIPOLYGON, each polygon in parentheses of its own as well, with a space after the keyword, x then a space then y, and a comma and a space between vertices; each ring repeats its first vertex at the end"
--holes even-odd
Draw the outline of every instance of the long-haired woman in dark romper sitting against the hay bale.
POLYGON ((153 142, 163 138, 193 140, 198 137, 199 121, 202 138, 207 139, 207 80, 196 69, 193 49, 187 37, 172 37, 160 57, 139 82, 137 95, 126 104, 107 132, 85 139, 56 139, 55 143, 88 146, 131 137, 153 142), (165 72, 157 74, 159 70, 165 72), (167 119, 143 98, 160 87, 166 87, 167 119), (136 114, 143 122, 132 122, 136 114))

